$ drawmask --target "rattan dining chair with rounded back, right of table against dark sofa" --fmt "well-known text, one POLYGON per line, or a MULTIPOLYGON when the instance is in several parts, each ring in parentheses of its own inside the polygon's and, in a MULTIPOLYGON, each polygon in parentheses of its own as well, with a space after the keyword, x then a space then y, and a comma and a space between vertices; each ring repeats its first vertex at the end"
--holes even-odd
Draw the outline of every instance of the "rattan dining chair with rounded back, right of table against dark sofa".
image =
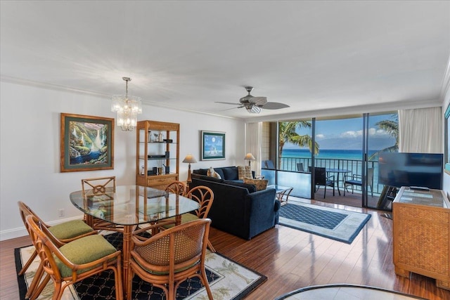
MULTIPOLYGON (((195 188, 189 190, 186 194, 186 197, 198 202, 198 204, 200 204, 200 207, 193 211, 193 213, 182 214, 181 224, 197 219, 206 219, 208 217, 208 213, 210 212, 212 202, 214 201, 214 193, 212 192, 212 190, 207 186, 198 185, 195 186, 195 188)), ((172 217, 163 220, 161 222, 163 223, 163 225, 160 226, 160 230, 166 230, 174 227, 176 225, 175 219, 176 217, 172 217)), ((210 240, 208 240, 207 245, 211 252, 216 252, 214 247, 212 247, 210 240)))

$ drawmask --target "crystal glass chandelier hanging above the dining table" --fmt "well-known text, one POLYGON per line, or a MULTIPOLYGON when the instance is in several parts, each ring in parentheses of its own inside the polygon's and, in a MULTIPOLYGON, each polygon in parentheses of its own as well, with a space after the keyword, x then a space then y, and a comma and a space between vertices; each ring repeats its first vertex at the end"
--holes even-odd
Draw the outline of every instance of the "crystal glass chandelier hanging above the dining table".
POLYGON ((122 77, 125 84, 125 95, 113 95, 111 111, 117 112, 117 126, 123 131, 133 131, 138 122, 138 114, 142 113, 142 101, 140 97, 128 96, 129 77, 122 77))

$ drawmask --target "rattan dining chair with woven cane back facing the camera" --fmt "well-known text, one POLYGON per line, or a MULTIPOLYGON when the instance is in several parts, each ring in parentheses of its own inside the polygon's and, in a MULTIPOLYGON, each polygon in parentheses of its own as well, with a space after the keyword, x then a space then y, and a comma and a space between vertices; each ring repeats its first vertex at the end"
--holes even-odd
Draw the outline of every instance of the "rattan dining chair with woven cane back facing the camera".
MULTIPOLYGON (((198 219, 164 230, 148 240, 132 237, 129 268, 131 277, 164 290, 167 299, 174 300, 176 289, 188 278, 198 277, 212 300, 212 292, 205 271, 205 254, 210 219, 198 219)), ((132 280, 125 282, 128 300, 131 299, 132 280)))

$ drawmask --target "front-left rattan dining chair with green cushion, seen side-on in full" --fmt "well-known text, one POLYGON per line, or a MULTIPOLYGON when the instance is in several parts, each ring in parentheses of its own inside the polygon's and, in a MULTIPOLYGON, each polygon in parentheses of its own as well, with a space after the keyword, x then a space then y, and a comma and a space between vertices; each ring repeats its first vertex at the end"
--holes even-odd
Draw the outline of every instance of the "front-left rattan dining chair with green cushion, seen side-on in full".
POLYGON ((61 299, 64 289, 75 282, 113 270, 116 299, 123 298, 122 255, 102 235, 81 237, 61 247, 53 243, 54 237, 35 216, 27 216, 26 226, 46 274, 37 286, 31 300, 41 294, 49 280, 53 282, 53 300, 61 299))

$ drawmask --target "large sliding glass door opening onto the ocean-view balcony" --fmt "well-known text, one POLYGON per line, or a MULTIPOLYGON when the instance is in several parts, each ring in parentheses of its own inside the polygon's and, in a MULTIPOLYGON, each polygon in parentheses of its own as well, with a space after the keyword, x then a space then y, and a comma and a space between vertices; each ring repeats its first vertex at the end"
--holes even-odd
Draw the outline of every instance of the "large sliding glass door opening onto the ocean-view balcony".
POLYGON ((383 192, 378 153, 397 151, 397 120, 387 112, 264 122, 262 173, 269 184, 293 187, 293 196, 376 208, 383 192), (316 168, 333 180, 326 192, 316 189, 316 168))

